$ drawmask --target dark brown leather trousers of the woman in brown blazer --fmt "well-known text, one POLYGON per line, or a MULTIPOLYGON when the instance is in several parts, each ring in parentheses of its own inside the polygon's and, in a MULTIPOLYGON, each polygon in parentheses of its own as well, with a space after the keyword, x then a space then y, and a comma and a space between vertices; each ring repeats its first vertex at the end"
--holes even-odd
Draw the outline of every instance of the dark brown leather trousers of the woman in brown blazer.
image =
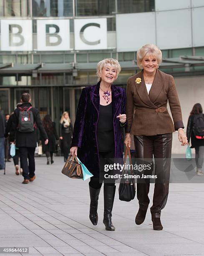
MULTIPOLYGON (((157 175, 157 178, 154 185, 153 205, 150 210, 152 217, 159 218, 169 194, 172 133, 156 136, 134 136, 134 143, 137 164, 151 164, 151 169, 144 171, 145 175, 151 175, 154 169, 154 155, 155 175, 157 175)), ((150 202, 148 197, 149 185, 150 179, 139 179, 137 181, 137 199, 141 210, 147 210, 150 202)))

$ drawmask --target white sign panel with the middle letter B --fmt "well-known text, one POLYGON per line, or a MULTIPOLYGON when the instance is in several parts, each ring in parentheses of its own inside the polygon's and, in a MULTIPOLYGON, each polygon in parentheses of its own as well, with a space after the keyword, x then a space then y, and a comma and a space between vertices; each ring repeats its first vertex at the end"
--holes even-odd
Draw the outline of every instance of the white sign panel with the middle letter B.
POLYGON ((37 50, 70 50, 69 20, 37 20, 37 50))

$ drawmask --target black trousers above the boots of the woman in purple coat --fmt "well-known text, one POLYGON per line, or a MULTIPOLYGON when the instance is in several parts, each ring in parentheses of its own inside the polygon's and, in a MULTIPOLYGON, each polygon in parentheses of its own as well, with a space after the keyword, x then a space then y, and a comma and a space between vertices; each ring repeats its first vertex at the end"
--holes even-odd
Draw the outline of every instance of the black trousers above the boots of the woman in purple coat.
POLYGON ((115 157, 115 151, 109 152, 99 152, 99 174, 97 177, 93 176, 90 178, 89 186, 94 189, 101 188, 103 181, 104 186, 115 186, 115 179, 108 179, 107 181, 104 179, 104 165, 105 164, 113 164, 113 159, 115 157))

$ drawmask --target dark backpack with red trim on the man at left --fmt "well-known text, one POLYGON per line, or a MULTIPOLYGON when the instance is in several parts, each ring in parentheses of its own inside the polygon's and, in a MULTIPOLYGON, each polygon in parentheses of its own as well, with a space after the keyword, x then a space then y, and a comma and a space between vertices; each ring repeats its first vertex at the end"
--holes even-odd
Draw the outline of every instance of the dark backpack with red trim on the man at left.
POLYGON ((34 119, 33 119, 33 112, 30 111, 30 108, 18 107, 19 112, 19 119, 18 119, 18 131, 20 133, 31 133, 34 131, 34 119))

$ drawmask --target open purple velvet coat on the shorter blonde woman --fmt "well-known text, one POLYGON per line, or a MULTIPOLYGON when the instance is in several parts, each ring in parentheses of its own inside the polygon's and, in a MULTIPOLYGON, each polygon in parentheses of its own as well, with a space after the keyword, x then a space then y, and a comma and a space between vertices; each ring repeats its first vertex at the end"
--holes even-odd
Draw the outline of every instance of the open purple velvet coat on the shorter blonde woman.
MULTIPOLYGON (((71 146, 78 146, 77 156, 88 170, 99 176, 99 156, 96 138, 96 128, 99 118, 100 82, 96 85, 83 88, 78 103, 76 120, 74 123, 73 138, 71 146)), ((123 138, 119 114, 125 114, 126 92, 121 87, 111 85, 113 128, 115 136, 115 158, 123 158, 123 138)))

